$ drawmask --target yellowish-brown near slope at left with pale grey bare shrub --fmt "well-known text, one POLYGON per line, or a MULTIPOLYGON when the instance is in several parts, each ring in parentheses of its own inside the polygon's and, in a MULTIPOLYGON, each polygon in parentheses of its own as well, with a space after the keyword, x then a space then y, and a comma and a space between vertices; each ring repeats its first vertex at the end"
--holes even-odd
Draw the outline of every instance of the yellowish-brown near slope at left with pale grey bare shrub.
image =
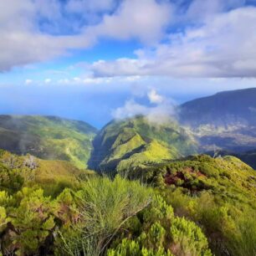
POLYGON ((81 170, 69 161, 43 160, 26 155, 17 156, 0 150, 0 191, 17 192, 22 187, 43 187, 54 195, 64 187, 77 187, 79 178, 94 172, 81 170))

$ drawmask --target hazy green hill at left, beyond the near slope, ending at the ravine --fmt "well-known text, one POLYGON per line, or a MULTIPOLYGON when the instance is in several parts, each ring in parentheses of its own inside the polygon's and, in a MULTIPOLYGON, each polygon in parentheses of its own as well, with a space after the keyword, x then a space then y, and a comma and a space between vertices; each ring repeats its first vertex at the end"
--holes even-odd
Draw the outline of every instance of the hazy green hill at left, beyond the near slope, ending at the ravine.
POLYGON ((55 116, 0 115, 0 148, 18 155, 70 161, 84 168, 96 129, 55 116))

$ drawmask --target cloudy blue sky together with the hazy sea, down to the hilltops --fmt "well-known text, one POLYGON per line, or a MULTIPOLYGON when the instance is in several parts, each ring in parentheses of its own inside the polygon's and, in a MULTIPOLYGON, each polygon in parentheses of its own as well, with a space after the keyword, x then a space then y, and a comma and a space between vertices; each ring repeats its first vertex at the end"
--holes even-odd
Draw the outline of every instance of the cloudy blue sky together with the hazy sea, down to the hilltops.
POLYGON ((256 0, 1 0, 0 114, 97 128, 256 86, 256 0))

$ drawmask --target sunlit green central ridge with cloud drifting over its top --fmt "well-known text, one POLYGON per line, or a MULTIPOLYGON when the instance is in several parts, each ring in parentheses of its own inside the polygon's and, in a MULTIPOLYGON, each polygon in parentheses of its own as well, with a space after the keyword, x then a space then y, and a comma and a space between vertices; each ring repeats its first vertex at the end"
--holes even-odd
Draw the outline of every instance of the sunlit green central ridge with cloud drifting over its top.
POLYGON ((93 145, 89 166, 101 171, 177 159, 197 150, 196 142, 177 123, 157 125, 143 116, 113 120, 95 137, 93 145))

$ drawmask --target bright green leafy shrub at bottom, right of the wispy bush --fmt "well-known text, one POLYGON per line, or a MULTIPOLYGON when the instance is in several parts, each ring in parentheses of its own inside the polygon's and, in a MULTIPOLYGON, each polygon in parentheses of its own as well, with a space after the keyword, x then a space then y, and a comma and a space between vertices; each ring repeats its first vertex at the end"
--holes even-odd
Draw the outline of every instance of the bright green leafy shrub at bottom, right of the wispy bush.
MULTIPOLYGON (((130 255, 212 255, 201 228, 185 218, 175 217, 172 207, 161 197, 141 212, 141 233, 131 229, 108 250, 108 256, 130 255)), ((129 228, 127 226, 126 228, 129 228)))

